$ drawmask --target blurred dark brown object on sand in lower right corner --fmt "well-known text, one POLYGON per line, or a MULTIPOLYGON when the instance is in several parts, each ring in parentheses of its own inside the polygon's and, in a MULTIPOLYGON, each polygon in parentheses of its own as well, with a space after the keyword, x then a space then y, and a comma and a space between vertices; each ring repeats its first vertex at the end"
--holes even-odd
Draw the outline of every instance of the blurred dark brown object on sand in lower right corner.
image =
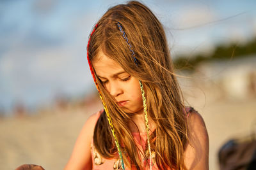
POLYGON ((227 141, 227 143, 221 146, 218 159, 221 170, 255 170, 255 136, 252 135, 246 138, 227 141))

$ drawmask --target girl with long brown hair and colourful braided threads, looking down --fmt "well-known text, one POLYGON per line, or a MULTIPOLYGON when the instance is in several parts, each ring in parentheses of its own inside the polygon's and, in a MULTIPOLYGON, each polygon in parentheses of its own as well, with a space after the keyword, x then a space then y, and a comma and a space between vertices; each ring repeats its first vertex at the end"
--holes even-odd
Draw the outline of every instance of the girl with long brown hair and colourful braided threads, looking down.
POLYGON ((84 124, 65 169, 209 169, 204 120, 184 106, 163 26, 147 6, 110 8, 87 50, 104 110, 84 124))

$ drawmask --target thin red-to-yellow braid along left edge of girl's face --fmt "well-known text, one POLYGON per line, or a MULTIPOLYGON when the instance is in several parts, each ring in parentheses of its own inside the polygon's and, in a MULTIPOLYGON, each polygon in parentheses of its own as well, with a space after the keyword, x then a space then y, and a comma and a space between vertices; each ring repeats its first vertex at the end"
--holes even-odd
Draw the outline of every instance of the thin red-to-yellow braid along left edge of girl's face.
POLYGON ((98 92, 99 92, 99 96, 100 96, 100 99, 101 99, 101 101, 102 101, 104 110, 105 110, 106 115, 107 115, 107 117, 108 117, 108 123, 109 123, 110 129, 111 129, 111 132, 112 132, 112 134, 113 134, 113 137, 114 137, 114 139, 115 139, 115 144, 116 144, 116 148, 117 148, 117 150, 118 150, 118 154, 119 154, 119 157, 120 157, 120 160, 121 160, 122 169, 125 169, 125 167, 124 167, 124 160, 123 160, 123 157, 122 157, 122 151, 121 151, 120 145, 119 145, 119 143, 118 143, 118 139, 116 138, 116 135, 115 135, 115 129, 114 129, 114 126, 113 126, 113 124, 112 124, 111 117, 110 117, 110 115, 109 115, 109 110, 108 110, 108 108, 107 108, 107 106, 106 106, 106 103, 105 103, 103 97, 102 97, 102 94, 101 94, 101 91, 100 91, 100 87, 99 87, 99 85, 98 85, 98 83, 97 83, 97 80, 96 80, 96 78, 95 78, 95 73, 94 73, 94 71, 93 71, 92 63, 91 63, 91 61, 90 61, 90 59, 89 59, 89 50, 88 50, 88 49, 89 49, 89 44, 90 44, 90 40, 91 40, 92 34, 95 32, 95 30, 97 29, 97 27, 98 27, 98 24, 95 25, 95 27, 94 27, 92 33, 90 34, 90 38, 88 39, 88 45, 87 45, 87 60, 88 60, 88 64, 89 64, 89 67, 90 67, 90 71, 91 71, 91 73, 92 73, 92 77, 93 77, 94 83, 95 83, 95 85, 96 85, 96 87, 97 87, 97 90, 98 90, 98 92))

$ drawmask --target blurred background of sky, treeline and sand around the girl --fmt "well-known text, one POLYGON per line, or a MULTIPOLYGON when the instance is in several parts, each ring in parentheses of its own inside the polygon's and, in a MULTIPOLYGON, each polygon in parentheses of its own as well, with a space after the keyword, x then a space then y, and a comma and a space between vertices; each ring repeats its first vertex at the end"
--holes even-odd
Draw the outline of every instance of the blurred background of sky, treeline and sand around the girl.
MULTIPOLYGON (((102 108, 86 60, 92 27, 126 1, 0 1, 0 169, 63 169, 102 108)), ((256 2, 142 1, 163 23, 186 103, 201 113, 209 164, 256 124, 256 2)))

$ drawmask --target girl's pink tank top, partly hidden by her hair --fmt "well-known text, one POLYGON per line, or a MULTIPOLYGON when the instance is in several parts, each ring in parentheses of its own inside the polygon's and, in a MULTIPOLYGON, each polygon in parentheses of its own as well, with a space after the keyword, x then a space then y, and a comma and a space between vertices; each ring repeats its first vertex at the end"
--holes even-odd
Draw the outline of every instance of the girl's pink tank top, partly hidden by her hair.
MULTIPOLYGON (((192 108, 193 109, 193 108, 192 108)), ((103 110, 102 110, 103 111, 103 110)), ((100 116, 102 111, 99 111, 97 114, 100 116)), ((188 117, 189 112, 191 111, 191 108, 187 107, 185 113, 187 113, 186 117, 188 117)), ((98 116, 98 118, 99 118, 98 116)), ((139 148, 143 147, 144 150, 146 150, 146 140, 147 140, 147 132, 139 133, 139 132, 132 132, 132 136, 134 137, 134 140, 136 141, 136 145, 139 146, 139 148), (140 139, 141 136, 141 139, 140 139)), ((146 151, 147 152, 147 151, 146 151)), ((91 145, 91 154, 92 154, 92 169, 93 170, 108 170, 108 169, 122 169, 121 161, 118 157, 118 154, 116 155, 116 159, 105 159, 104 157, 101 157, 100 154, 95 150, 95 146, 93 145, 93 139, 92 139, 92 145, 91 145)), ((156 154, 152 152, 153 157, 153 167, 152 170, 156 170, 157 165, 155 164, 154 156, 156 154)), ((149 162, 149 160, 148 160, 149 162)), ((143 169, 149 169, 148 163, 146 160, 143 160, 143 169)), ((125 169, 129 170, 128 167, 125 167, 125 169)), ((136 169, 136 167, 131 167, 131 170, 136 169)))

